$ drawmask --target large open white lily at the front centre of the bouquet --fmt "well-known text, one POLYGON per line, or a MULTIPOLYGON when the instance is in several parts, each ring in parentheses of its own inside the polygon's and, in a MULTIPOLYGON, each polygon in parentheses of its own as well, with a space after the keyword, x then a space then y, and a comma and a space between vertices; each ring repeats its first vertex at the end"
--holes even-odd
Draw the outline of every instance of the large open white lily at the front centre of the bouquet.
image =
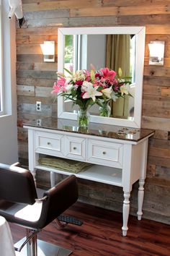
MULTIPOLYGON (((83 90, 86 92, 86 93, 84 93, 83 98, 92 98, 92 100, 95 102, 96 101, 96 96, 101 96, 102 95, 101 92, 97 91, 99 86, 93 87, 91 82, 86 82, 86 81, 85 81, 85 84, 83 83, 83 85, 84 85, 83 90)), ((83 87, 83 85, 82 85, 82 87, 83 87)))

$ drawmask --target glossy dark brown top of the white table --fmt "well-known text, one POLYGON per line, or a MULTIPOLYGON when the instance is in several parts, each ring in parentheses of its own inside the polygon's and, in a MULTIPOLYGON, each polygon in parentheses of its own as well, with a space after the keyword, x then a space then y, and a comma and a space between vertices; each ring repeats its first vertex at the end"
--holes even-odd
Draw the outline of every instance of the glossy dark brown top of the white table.
POLYGON ((54 129, 63 132, 74 132, 84 135, 94 135, 99 137, 109 137, 118 140, 130 140, 138 142, 154 133, 153 129, 138 129, 130 127, 120 127, 116 125, 90 123, 89 127, 79 127, 77 121, 70 119, 58 119, 46 117, 34 119, 23 124, 27 127, 39 127, 44 129, 54 129))

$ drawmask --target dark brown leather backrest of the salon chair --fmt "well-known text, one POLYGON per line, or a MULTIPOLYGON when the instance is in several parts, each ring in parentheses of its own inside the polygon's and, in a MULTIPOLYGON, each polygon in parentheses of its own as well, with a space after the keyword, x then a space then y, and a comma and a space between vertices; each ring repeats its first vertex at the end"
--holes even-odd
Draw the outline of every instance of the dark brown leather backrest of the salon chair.
POLYGON ((0 163, 0 198, 9 202, 35 203, 37 192, 30 171, 0 163))

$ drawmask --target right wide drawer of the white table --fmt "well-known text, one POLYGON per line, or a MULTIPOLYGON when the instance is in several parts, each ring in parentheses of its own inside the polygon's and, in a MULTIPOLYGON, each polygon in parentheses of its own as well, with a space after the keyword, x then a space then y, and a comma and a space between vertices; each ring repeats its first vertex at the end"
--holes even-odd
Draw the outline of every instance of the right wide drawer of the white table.
POLYGON ((123 144, 89 140, 88 161, 104 166, 122 168, 123 144))

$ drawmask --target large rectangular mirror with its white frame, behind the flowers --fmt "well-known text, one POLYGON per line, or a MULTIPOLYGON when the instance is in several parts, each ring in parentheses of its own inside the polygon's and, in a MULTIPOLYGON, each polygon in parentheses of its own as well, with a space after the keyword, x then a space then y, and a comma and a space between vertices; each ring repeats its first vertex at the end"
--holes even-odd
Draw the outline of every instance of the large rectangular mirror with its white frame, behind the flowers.
MULTIPOLYGON (((74 71, 122 69, 130 76, 133 97, 111 101, 112 114, 99 116, 97 104, 90 108, 90 122, 140 128, 143 92, 145 27, 61 27, 58 29, 58 72, 73 66, 74 71)), ((67 74, 66 74, 67 76, 67 74)), ((58 118, 77 120, 76 106, 58 95, 58 118)))

